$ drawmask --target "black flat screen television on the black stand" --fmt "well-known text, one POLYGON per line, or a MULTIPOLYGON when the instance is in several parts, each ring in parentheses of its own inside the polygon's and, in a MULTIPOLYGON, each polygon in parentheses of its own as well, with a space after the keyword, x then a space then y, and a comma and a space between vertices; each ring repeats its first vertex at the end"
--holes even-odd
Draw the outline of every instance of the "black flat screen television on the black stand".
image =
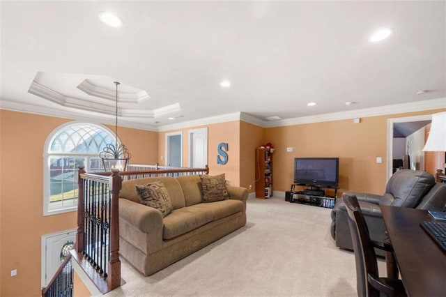
POLYGON ((294 183, 337 187, 339 158, 294 158, 294 183))

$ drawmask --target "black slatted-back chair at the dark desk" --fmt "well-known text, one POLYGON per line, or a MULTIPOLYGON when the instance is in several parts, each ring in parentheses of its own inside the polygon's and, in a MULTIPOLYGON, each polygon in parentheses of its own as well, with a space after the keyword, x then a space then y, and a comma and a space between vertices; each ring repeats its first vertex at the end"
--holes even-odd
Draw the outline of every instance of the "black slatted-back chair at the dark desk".
POLYGON ((403 282, 397 278, 379 277, 378 263, 374 248, 391 251, 386 243, 374 243, 369 236, 369 230, 361 212, 356 196, 343 195, 348 213, 353 250, 356 262, 356 287, 358 296, 406 296, 403 282))

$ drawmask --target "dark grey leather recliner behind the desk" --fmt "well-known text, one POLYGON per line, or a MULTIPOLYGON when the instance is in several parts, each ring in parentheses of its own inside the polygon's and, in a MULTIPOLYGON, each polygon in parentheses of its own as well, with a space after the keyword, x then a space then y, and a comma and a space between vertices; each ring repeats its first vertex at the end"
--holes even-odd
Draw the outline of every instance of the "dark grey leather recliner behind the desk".
MULTIPOLYGON (((446 183, 436 183, 429 172, 403 169, 395 172, 387 182, 384 195, 346 191, 344 194, 355 195, 359 201, 362 214, 369 227, 373 241, 385 240, 385 224, 380 205, 410 207, 431 211, 445 211, 446 183)), ((353 250, 348 214, 342 199, 337 199, 332 209, 331 234, 339 248, 353 250)), ((376 250, 380 256, 381 250, 376 250)))

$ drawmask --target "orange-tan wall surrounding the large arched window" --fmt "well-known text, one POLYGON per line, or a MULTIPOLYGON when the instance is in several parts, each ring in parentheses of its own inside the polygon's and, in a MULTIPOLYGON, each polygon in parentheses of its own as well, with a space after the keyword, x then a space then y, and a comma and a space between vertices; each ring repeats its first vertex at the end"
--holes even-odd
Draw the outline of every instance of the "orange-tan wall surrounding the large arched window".
MULTIPOLYGON (((0 109, 0 296, 40 294, 41 236, 76 227, 76 213, 43 216, 43 148, 70 120, 0 109), (17 269, 17 276, 10 271, 17 269)), ((132 162, 156 162, 157 133, 120 128, 132 162)))

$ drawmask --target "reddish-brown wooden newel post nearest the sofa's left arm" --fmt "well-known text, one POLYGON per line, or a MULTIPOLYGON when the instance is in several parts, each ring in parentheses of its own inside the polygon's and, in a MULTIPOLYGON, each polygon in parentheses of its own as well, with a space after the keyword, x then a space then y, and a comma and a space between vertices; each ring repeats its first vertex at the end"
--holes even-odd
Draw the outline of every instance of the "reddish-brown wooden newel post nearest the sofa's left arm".
POLYGON ((121 285, 121 261, 119 260, 119 191, 122 179, 118 169, 112 169, 112 211, 110 215, 110 260, 107 275, 107 285, 110 290, 121 285))

